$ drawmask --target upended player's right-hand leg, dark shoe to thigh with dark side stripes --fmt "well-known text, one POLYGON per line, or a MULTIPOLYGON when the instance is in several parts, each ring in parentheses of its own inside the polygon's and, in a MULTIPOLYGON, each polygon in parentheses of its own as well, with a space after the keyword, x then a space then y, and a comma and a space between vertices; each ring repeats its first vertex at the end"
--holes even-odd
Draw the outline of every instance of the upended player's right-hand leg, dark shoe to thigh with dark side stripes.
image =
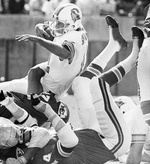
POLYGON ((133 48, 129 57, 99 78, 95 77, 91 80, 92 99, 101 134, 105 137, 104 143, 108 148, 115 151, 116 157, 123 155, 125 149, 129 148, 131 134, 109 88, 119 82, 135 66, 144 35, 137 27, 132 28, 132 32, 133 48))

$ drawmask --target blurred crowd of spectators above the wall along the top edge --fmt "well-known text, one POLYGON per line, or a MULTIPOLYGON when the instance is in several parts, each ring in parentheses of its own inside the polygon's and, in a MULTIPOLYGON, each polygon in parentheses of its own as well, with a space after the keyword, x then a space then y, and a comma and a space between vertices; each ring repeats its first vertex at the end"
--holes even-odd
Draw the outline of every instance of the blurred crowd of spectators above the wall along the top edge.
POLYGON ((60 3, 79 6, 83 15, 143 16, 149 0, 0 0, 1 14, 50 16, 60 3))

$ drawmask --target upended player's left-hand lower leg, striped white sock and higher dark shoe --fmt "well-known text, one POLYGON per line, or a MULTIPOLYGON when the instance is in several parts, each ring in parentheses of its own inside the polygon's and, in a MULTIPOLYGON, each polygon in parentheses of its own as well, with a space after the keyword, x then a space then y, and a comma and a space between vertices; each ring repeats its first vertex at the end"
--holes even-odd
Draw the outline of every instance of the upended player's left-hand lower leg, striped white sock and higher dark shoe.
POLYGON ((92 78, 93 76, 99 76, 106 67, 109 60, 113 55, 127 48, 127 42, 122 37, 119 31, 118 23, 110 16, 106 17, 106 22, 109 31, 109 42, 104 50, 91 62, 87 69, 81 74, 81 76, 92 78))

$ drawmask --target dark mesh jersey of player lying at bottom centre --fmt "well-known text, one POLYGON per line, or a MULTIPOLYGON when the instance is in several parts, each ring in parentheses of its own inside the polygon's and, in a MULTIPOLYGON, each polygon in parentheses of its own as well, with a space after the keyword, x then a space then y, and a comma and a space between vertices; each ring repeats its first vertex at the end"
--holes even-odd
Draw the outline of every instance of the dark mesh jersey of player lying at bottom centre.
POLYGON ((60 151, 58 141, 50 140, 34 157, 33 164, 104 164, 115 156, 103 144, 100 135, 90 129, 75 131, 79 143, 68 152, 60 151))

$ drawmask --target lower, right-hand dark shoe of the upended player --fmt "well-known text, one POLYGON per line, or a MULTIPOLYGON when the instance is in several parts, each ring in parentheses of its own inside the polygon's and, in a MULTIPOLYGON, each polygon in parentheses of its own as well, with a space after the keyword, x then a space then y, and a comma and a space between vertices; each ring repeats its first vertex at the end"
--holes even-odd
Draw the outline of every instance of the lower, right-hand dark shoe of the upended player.
POLYGON ((132 27, 132 38, 135 39, 139 39, 138 40, 138 46, 139 46, 139 49, 142 47, 142 44, 143 44, 143 40, 144 40, 144 34, 143 34, 143 31, 138 28, 138 27, 132 27))

